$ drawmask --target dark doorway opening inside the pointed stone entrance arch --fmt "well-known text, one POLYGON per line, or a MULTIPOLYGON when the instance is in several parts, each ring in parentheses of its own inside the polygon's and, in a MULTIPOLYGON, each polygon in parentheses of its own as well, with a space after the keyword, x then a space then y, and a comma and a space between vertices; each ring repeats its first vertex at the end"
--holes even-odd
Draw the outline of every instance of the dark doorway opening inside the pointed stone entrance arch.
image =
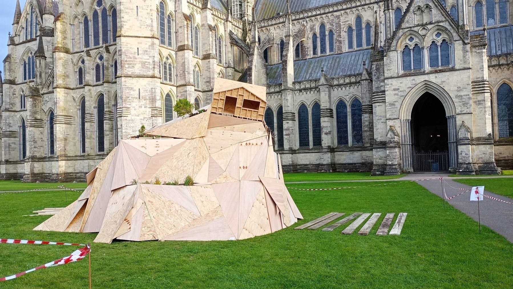
POLYGON ((449 169, 447 118, 442 102, 424 93, 411 112, 414 171, 449 169))

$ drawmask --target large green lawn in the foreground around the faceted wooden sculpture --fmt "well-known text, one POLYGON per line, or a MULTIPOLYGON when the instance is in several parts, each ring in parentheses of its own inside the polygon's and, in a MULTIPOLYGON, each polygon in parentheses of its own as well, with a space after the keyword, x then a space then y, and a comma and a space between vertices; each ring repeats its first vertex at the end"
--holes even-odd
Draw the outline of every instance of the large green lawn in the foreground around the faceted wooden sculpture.
MULTIPOLYGON (((392 181, 393 182, 393 181, 392 181)), ((505 288, 513 284, 513 244, 415 182, 304 183, 290 190, 305 220, 241 241, 92 244, 95 288, 505 288), (331 211, 407 212, 401 236, 341 235, 293 227, 331 211), (508 285, 509 284, 509 285, 508 285)), ((292 186, 292 185, 289 185, 292 186)), ((68 197, 78 197, 70 192, 68 197)), ((60 191, 0 196, 0 238, 92 242, 96 234, 32 231, 49 216, 22 217, 66 203, 60 191)), ((357 229, 358 232, 358 229, 357 229)), ((69 255, 76 247, 0 244, 0 276, 69 255)), ((87 260, 1 282, 2 288, 87 288, 87 260)))

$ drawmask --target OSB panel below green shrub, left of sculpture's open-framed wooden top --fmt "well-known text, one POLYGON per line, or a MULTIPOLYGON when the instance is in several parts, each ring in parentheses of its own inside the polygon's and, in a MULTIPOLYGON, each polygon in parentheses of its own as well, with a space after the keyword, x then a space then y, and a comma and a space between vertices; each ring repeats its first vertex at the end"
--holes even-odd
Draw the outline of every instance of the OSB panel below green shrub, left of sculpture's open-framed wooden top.
POLYGON ((163 136, 169 138, 193 139, 203 137, 210 117, 210 108, 193 117, 178 122, 166 123, 162 126, 146 131, 150 136, 163 136))

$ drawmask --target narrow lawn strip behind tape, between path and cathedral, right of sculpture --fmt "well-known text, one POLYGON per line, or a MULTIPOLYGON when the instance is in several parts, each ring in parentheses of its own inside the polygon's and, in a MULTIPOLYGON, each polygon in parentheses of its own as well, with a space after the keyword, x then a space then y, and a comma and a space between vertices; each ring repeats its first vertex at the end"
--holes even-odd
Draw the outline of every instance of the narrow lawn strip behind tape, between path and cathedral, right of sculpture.
POLYGON ((370 172, 293 172, 283 174, 285 182, 323 182, 323 181, 354 181, 354 180, 390 180, 404 177, 371 176, 370 172))

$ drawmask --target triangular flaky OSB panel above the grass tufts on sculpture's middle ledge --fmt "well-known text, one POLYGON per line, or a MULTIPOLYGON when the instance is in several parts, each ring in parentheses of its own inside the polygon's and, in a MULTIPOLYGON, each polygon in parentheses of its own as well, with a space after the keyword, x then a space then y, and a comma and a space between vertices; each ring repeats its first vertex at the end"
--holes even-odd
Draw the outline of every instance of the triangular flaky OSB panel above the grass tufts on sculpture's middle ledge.
MULTIPOLYGON (((203 151, 203 146, 204 144, 200 138, 187 140, 182 147, 173 154, 172 158, 159 168, 150 179, 154 180, 159 178, 162 183, 177 181, 183 184, 187 176, 194 175, 196 153, 203 151), (200 150, 198 149, 199 146, 202 146, 200 150)), ((200 168, 198 168, 198 171, 200 168)))

